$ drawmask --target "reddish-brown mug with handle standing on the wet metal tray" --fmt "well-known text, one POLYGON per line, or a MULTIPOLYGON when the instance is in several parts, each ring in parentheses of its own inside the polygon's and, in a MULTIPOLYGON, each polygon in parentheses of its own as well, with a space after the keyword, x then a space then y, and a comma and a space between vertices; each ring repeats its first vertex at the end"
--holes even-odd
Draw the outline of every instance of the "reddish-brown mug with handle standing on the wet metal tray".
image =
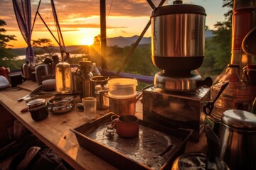
POLYGON ((112 128, 117 135, 124 138, 133 138, 139 135, 139 119, 135 115, 112 115, 112 128))

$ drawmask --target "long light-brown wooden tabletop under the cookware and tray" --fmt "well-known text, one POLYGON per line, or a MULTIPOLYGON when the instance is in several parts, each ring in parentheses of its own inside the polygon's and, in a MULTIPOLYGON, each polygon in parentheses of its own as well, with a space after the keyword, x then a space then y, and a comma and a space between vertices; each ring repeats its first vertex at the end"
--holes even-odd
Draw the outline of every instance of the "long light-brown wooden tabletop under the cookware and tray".
MULTIPOLYGON (((35 82, 25 81, 19 86, 21 89, 4 89, 0 91, 0 104, 74 169, 115 169, 114 166, 78 145, 75 134, 70 129, 84 124, 85 120, 79 117, 76 109, 64 114, 49 113, 48 118, 40 122, 32 120, 29 112, 21 113, 21 109, 26 108, 26 102, 18 102, 17 99, 29 94, 37 86, 35 82)), ((139 103, 136 115, 142 119, 142 104, 139 103)), ((97 118, 105 113, 108 111, 98 111, 97 118)), ((206 152, 205 135, 201 135, 199 142, 188 142, 186 152, 206 152)))

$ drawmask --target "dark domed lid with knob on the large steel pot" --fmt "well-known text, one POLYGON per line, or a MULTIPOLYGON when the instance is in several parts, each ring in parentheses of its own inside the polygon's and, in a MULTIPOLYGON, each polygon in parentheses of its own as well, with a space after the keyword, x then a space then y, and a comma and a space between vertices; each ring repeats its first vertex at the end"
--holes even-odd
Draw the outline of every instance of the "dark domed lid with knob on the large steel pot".
POLYGON ((167 6, 160 6, 157 8, 154 8, 152 11, 151 17, 156 16, 163 16, 168 14, 178 14, 178 13, 194 13, 194 14, 201 14, 206 16, 206 10, 202 6, 193 5, 193 4, 182 4, 181 3, 175 3, 174 1, 173 5, 167 5, 167 6))

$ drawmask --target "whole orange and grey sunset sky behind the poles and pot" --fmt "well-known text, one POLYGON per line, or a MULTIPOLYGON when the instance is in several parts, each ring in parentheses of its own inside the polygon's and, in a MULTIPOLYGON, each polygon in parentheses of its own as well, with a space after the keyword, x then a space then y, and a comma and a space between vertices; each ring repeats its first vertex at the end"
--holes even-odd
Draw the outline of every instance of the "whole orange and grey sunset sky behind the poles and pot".
MULTIPOLYGON (((38 1, 31 0, 32 21, 38 1)), ((157 6, 160 0, 152 1, 157 6)), ((14 47, 26 47, 26 42, 18 29, 12 1, 0 0, 0 2, 0 18, 6 21, 7 26, 4 27, 7 30, 6 34, 16 35, 17 39, 9 44, 14 47)), ((55 0, 54 2, 66 46, 87 45, 100 34, 100 0, 55 0)), ((166 4, 172 4, 172 2, 166 0, 166 4)), ((217 21, 224 21, 223 14, 228 11, 227 8, 222 8, 223 0, 184 0, 183 4, 203 6, 207 13, 206 26, 210 29, 214 29, 213 25, 217 21)), ((106 0, 107 38, 140 35, 149 21, 151 11, 146 0, 106 0)), ((39 13, 57 38, 50 0, 41 1, 39 13)), ((151 28, 145 36, 151 36, 151 28)), ((39 17, 36 18, 32 40, 38 40, 38 38, 49 38, 55 44, 53 36, 39 17)))

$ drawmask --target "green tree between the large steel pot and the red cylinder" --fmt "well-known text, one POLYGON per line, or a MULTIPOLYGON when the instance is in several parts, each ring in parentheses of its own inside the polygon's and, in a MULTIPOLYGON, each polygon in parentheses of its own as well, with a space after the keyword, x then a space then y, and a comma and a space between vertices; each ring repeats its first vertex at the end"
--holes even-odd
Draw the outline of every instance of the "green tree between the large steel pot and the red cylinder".
POLYGON ((224 14, 225 21, 215 23, 213 30, 215 36, 206 40, 205 59, 200 68, 204 75, 218 75, 230 63, 233 0, 223 0, 223 7, 229 8, 224 14))

